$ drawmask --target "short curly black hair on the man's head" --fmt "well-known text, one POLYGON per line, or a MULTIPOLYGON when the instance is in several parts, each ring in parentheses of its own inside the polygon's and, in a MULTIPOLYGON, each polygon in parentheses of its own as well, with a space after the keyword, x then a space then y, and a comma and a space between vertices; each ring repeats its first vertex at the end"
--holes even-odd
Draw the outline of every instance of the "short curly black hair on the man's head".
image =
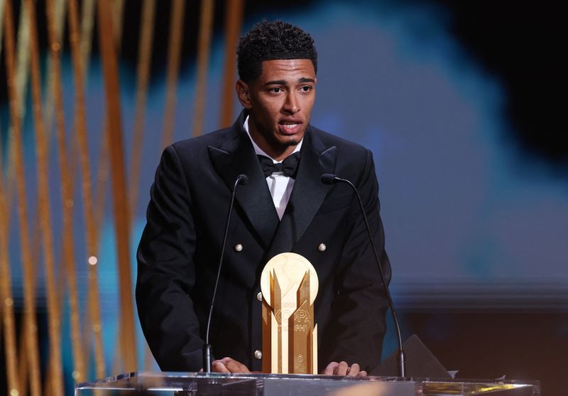
POLYGON ((263 19, 239 41, 236 48, 239 78, 256 80, 262 74, 263 60, 309 59, 317 73, 317 52, 309 33, 284 21, 263 19))

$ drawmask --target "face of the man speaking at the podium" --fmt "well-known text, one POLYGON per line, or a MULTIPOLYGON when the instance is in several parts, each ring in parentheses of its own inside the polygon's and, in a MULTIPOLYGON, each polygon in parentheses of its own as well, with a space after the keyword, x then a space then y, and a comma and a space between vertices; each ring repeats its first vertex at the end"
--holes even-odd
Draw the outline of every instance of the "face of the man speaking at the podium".
POLYGON ((309 59, 265 60, 262 75, 236 82, 241 104, 249 109, 249 132, 278 161, 304 137, 315 101, 315 70, 309 59))

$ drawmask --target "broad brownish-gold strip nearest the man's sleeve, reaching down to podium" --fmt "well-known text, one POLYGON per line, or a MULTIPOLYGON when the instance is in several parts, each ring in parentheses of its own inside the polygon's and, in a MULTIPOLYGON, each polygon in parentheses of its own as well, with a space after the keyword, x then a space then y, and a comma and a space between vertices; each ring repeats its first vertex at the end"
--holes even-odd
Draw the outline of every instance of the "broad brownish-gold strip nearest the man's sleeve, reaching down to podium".
POLYGON ((134 333, 133 299, 130 270, 130 224, 126 178, 124 171, 124 149, 122 144, 121 107, 116 48, 112 41, 111 4, 109 0, 97 2, 99 11, 99 45, 102 56, 104 87, 107 105, 109 152, 111 159, 112 197, 116 248, 119 259, 119 281, 121 296, 121 344, 123 346, 126 371, 136 370, 136 334, 134 333))

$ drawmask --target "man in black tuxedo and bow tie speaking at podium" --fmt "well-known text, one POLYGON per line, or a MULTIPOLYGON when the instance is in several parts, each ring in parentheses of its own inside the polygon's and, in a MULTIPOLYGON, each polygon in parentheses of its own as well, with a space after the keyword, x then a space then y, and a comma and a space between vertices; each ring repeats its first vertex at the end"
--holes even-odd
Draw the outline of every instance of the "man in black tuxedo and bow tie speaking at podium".
POLYGON ((388 306, 359 203, 361 193, 387 279, 371 151, 310 125, 317 54, 309 34, 263 21, 237 48, 232 127, 168 146, 155 173, 148 223, 138 247, 136 301, 162 370, 202 368, 202 346, 231 192, 236 203, 210 334, 212 370, 261 370, 260 275, 281 252, 315 267, 320 370, 366 375, 380 363, 388 306))

